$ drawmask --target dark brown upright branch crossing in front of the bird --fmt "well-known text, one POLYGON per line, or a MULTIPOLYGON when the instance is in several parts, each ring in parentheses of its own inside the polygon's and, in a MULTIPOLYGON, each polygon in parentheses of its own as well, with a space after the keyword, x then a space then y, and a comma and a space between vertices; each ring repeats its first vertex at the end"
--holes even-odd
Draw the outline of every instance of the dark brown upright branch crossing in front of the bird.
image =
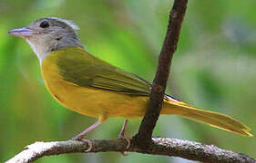
POLYGON ((168 30, 159 54, 159 66, 153 81, 148 110, 140 124, 138 134, 135 136, 137 143, 144 149, 148 148, 153 129, 159 119, 159 113, 162 108, 162 101, 169 77, 170 63, 173 53, 177 49, 179 31, 186 13, 187 4, 188 0, 175 0, 169 13, 168 30))

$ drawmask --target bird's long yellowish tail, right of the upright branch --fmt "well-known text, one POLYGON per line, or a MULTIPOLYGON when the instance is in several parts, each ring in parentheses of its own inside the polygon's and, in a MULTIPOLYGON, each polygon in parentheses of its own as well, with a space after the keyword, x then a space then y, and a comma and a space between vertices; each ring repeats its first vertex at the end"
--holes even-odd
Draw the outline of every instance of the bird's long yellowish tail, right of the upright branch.
POLYGON ((230 116, 209 110, 200 110, 189 106, 182 101, 176 101, 169 96, 165 97, 161 114, 177 114, 190 120, 209 124, 212 127, 228 130, 237 134, 252 137, 251 129, 232 119, 230 116))

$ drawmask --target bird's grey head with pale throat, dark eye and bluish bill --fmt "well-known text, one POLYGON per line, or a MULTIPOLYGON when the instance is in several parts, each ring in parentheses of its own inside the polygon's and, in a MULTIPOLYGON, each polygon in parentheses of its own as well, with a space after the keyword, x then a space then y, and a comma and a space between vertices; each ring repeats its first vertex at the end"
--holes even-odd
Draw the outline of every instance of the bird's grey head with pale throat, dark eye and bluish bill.
POLYGON ((26 39, 40 62, 53 51, 69 46, 82 46, 79 43, 76 24, 56 17, 37 19, 32 24, 8 32, 26 39))

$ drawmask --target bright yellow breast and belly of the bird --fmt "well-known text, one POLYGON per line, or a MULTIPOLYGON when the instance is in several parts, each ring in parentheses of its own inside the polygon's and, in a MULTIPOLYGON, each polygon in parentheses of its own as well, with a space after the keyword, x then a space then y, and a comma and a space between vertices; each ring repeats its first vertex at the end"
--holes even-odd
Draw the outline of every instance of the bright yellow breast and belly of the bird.
POLYGON ((100 120, 107 120, 108 117, 132 119, 144 116, 148 97, 80 87, 64 81, 57 71, 50 70, 53 68, 46 69, 42 69, 42 73, 47 90, 67 109, 100 120))

